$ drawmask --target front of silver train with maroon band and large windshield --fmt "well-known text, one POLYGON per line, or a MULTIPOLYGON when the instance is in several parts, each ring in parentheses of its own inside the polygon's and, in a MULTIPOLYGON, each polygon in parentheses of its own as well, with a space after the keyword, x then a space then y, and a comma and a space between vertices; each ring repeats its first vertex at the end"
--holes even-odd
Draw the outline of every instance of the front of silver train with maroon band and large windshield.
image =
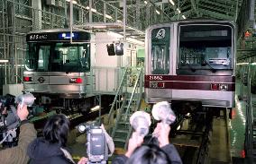
POLYGON ((235 36, 233 22, 152 25, 146 30, 145 100, 233 108, 235 36))

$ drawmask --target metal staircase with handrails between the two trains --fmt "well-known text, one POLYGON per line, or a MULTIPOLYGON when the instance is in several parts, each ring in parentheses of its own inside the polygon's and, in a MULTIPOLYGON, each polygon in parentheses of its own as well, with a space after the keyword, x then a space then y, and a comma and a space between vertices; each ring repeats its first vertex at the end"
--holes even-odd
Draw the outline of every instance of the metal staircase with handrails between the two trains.
POLYGON ((108 114, 108 121, 112 129, 110 134, 116 148, 126 149, 132 132, 129 118, 141 107, 142 72, 143 68, 126 68, 108 114))

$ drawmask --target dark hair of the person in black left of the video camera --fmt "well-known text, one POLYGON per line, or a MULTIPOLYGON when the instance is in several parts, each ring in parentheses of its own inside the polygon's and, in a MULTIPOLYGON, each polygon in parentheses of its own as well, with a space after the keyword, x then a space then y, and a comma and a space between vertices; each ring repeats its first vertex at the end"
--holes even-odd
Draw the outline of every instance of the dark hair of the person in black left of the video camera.
POLYGON ((69 119, 64 115, 54 115, 48 119, 43 128, 43 137, 51 143, 59 143, 60 146, 66 146, 69 134, 69 119))

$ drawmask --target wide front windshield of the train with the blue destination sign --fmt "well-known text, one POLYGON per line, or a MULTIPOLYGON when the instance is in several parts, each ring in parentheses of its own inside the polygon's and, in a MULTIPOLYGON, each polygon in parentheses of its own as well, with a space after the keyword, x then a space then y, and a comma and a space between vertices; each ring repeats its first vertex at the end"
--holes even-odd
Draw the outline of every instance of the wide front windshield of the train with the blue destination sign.
POLYGON ((34 72, 88 72, 90 45, 64 42, 30 42, 25 67, 34 72))

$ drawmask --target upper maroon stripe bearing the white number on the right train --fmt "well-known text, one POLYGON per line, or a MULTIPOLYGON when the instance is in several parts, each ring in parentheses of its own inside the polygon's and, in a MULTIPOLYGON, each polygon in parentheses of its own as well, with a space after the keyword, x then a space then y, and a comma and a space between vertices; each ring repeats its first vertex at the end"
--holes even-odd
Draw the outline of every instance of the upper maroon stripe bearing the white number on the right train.
POLYGON ((145 75, 146 81, 235 82, 234 76, 145 75))

